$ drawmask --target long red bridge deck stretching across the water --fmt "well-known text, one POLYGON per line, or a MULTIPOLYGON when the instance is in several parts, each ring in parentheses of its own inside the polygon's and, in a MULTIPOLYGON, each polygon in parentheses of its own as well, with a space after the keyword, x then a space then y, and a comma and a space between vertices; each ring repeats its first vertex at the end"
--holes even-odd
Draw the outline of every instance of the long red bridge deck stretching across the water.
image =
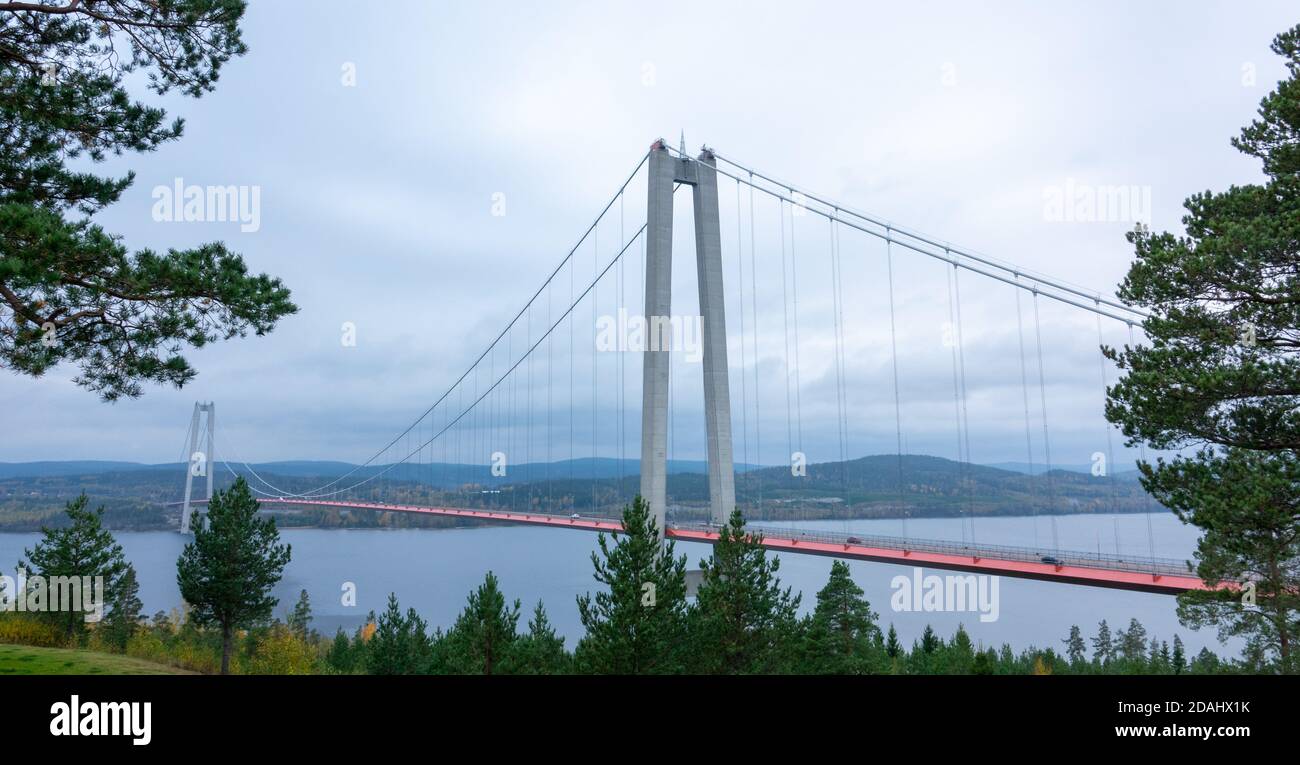
MULTIPOLYGON (((614 518, 586 515, 555 515, 543 513, 514 513, 506 510, 473 510, 467 507, 432 507, 424 505, 393 505, 386 502, 355 502, 347 500, 298 500, 274 497, 259 500, 266 505, 299 505, 377 510, 382 513, 415 513, 454 518, 473 518, 485 522, 524 523, 584 531, 619 533, 623 523, 614 518)), ((198 500, 195 503, 205 503, 198 500)), ((751 526, 763 535, 763 546, 781 553, 826 556, 876 563, 897 563, 926 569, 946 569, 1040 579, 1086 587, 1134 589, 1161 595, 1178 595, 1190 589, 1209 589, 1205 582, 1188 571, 1187 563, 1174 558, 1135 558, 1102 556, 1071 550, 1036 550, 1005 545, 972 545, 956 541, 870 536, 828 531, 801 531, 796 528, 751 526), (1046 558, 1046 562, 1044 561, 1046 558), (1054 561, 1054 562, 1053 562, 1054 561)), ((711 544, 718 541, 718 527, 707 523, 670 524, 667 536, 681 541, 711 544)), ((1227 585, 1231 587, 1231 585, 1227 585)))

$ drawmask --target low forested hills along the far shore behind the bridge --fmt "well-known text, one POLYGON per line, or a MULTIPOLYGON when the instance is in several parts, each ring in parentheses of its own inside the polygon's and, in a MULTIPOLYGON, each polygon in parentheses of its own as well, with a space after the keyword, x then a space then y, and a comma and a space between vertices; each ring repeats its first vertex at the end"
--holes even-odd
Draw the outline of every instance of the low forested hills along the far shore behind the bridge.
MULTIPOLYGON (((399 466, 380 476, 376 468, 359 470, 343 480, 341 463, 292 462, 259 464, 261 479, 290 493, 350 490, 339 498, 387 500, 408 503, 446 503, 467 507, 533 509, 541 513, 611 514, 637 493, 640 475, 580 477, 616 474, 619 461, 590 464, 580 461, 515 468, 494 479, 482 466, 399 466), (569 468, 573 477, 569 477, 569 468), (603 468, 603 470, 602 470, 603 468), (276 472, 276 471, 281 472, 276 472), (439 475, 442 470, 442 475, 439 475), (430 475, 432 472, 432 475, 430 475), (546 474, 550 474, 547 480, 546 474), (313 475, 324 474, 324 475, 313 475), (534 475, 534 480, 520 480, 534 475), (355 485, 360 484, 360 485, 355 485), (355 488, 351 488, 354 487, 355 488)), ((624 468, 630 461, 624 461, 624 468)), ((84 463, 83 463, 84 464, 84 463)), ((100 463, 94 463, 100 464, 100 463)), ((668 476, 670 510, 673 518, 702 518, 707 513, 708 481, 703 472, 682 472, 690 463, 676 463, 668 476)), ((701 470, 703 464, 694 463, 701 470)), ((240 474, 247 475, 242 467, 240 474)), ((234 481, 234 474, 218 466, 217 489, 234 481)), ((195 481, 196 496, 203 480, 195 481)), ((264 483, 251 485, 277 493, 264 483)), ((183 494, 181 466, 136 466, 107 472, 51 474, 0 477, 0 530, 26 531, 57 522, 65 502, 86 492, 94 505, 105 507, 114 528, 174 528, 179 513, 168 506, 183 494)), ((737 475, 737 502, 751 518, 897 518, 975 515, 1028 515, 1065 513, 1136 513, 1154 507, 1135 474, 1095 477, 1091 474, 1053 470, 1026 475, 980 464, 965 464, 918 454, 874 455, 842 463, 810 464, 806 476, 792 476, 786 467, 755 468, 737 475), (901 464, 901 471, 900 471, 901 464), (901 480, 900 480, 901 479, 901 480)), ((448 526, 447 519, 424 519, 372 511, 347 513, 318 507, 270 506, 286 526, 448 526)))

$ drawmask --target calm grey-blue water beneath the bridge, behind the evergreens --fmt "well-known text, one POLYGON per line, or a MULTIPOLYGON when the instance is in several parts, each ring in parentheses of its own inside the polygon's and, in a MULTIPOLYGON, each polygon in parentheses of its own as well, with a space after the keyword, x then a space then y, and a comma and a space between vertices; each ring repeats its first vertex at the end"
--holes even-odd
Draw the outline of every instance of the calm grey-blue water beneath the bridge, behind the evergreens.
MULTIPOLYGON (((1161 557, 1191 556, 1197 533, 1169 514, 1149 518, 1154 552, 1161 557)), ((1104 553, 1147 554, 1147 515, 1066 515, 1057 518, 1061 546, 1067 549, 1100 549, 1104 553)), ((774 524, 779 526, 779 524, 774 524)), ((900 535, 898 520, 828 520, 800 522, 802 528, 854 531, 900 535)), ((962 524, 952 519, 913 519, 907 532, 927 539, 962 539, 962 524)), ((500 578, 508 597, 532 609, 538 598, 556 630, 573 647, 582 634, 577 617, 576 596, 595 587, 590 556, 597 536, 524 526, 464 530, 286 530, 282 537, 292 545, 292 562, 277 588, 281 611, 286 611, 298 591, 307 589, 317 617, 316 627, 332 634, 335 627, 355 628, 369 610, 382 610, 389 592, 396 592, 403 608, 413 606, 430 626, 450 624, 465 596, 489 569, 500 578), (358 605, 343 608, 341 591, 346 582, 355 583, 358 605)), ((23 548, 31 546, 35 533, 0 533, 0 571, 13 574, 23 548)), ((181 597, 176 585, 176 559, 185 539, 172 532, 120 532, 117 539, 140 575, 140 598, 147 613, 172 609, 181 597)), ((980 519, 975 527, 976 541, 1013 545, 1050 545, 1050 520, 1034 518, 980 519)), ((680 544, 690 567, 707 556, 699 544, 680 544)), ((893 623, 900 636, 910 643, 931 623, 940 635, 949 636, 958 623, 965 623, 971 638, 985 645, 1011 643, 1020 649, 1030 644, 1061 647, 1070 624, 1079 624, 1091 636, 1100 619, 1112 628, 1138 617, 1150 635, 1173 640, 1179 634, 1191 652, 1202 645, 1218 653, 1236 653, 1225 648, 1212 631, 1192 632, 1178 624, 1174 598, 1115 589, 1072 587, 1046 582, 1002 578, 1000 614, 996 622, 980 622, 978 613, 907 613, 890 609, 890 580, 910 569, 850 561, 853 578, 862 587, 881 626, 893 623)), ((781 580, 803 593, 805 609, 826 583, 831 569, 828 558, 781 556, 781 580)), ((928 571, 944 575, 944 571, 928 571)))

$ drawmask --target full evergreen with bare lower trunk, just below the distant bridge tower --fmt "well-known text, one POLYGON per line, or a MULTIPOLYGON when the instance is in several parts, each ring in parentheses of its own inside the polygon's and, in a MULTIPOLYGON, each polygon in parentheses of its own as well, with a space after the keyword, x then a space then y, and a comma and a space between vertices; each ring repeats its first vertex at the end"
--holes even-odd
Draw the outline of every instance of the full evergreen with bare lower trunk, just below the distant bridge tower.
POLYGON ((194 541, 177 561, 190 619, 221 630, 221 674, 230 671, 235 630, 270 618, 280 602, 270 591, 289 565, 291 550, 280 544, 276 520, 259 518, 257 509, 248 484, 235 479, 208 502, 207 520, 195 523, 194 541))

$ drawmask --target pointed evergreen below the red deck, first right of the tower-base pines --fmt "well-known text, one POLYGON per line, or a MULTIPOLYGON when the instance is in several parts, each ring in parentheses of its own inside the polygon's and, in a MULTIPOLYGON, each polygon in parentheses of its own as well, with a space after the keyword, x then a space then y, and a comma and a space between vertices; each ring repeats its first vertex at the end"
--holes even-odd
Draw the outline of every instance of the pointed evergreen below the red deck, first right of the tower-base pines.
MULTIPOLYGON (((844 561, 831 563, 831 578, 816 595, 816 609, 805 630, 803 671, 867 674, 883 669, 878 651, 880 627, 866 593, 844 561)), ((897 635, 892 632, 897 648, 897 635)), ((892 656, 890 656, 892 658, 892 656)))

